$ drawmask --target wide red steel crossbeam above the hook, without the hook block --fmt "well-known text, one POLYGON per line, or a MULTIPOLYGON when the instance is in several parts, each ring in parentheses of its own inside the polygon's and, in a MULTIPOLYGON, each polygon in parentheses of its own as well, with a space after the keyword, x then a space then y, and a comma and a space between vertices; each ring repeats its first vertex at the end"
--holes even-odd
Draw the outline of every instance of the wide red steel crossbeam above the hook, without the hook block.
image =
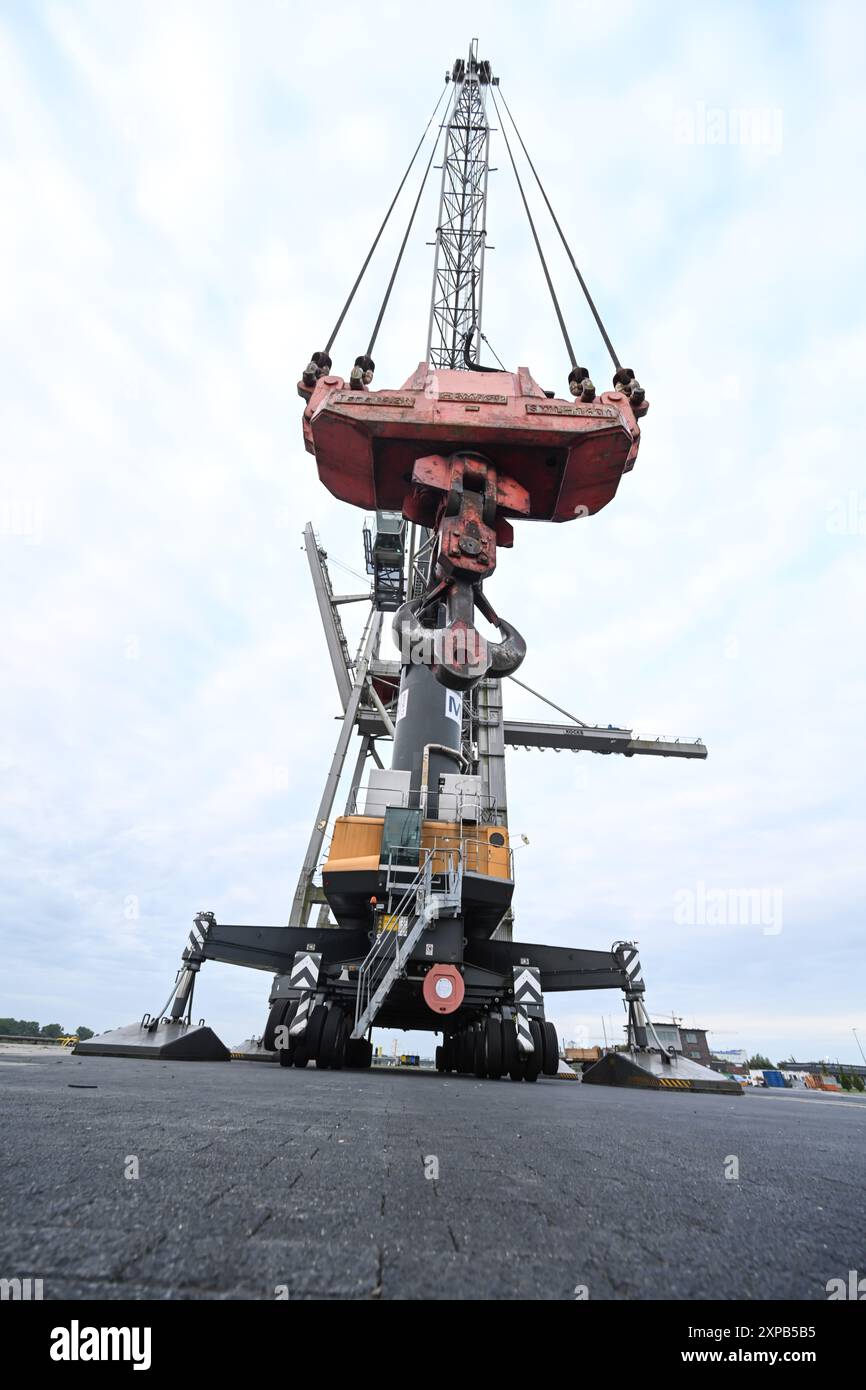
POLYGON ((482 455, 496 474, 499 545, 510 543, 506 514, 570 521, 599 512, 634 467, 641 438, 623 392, 591 404, 549 399, 525 367, 434 371, 420 363, 399 391, 352 391, 341 377, 321 377, 299 392, 307 399, 304 445, 334 496, 435 527, 441 481, 425 466, 435 473, 448 455, 482 455))

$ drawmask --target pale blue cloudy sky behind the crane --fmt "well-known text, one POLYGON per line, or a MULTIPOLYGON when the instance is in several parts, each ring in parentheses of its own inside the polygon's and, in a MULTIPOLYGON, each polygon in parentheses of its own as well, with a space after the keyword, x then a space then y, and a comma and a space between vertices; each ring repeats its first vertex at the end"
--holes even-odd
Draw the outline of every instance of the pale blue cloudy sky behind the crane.
MULTIPOLYGON (((288 917, 336 734, 303 524, 361 567, 361 514, 318 485, 295 381, 473 35, 652 400, 614 503, 518 528, 491 596, 557 703, 709 746, 698 764, 514 752, 516 934, 634 937, 656 1016, 853 1059, 866 10, 844 0, 0 0, 0 1013, 126 1023, 164 1001, 195 910, 288 917)), ((499 143, 493 163, 485 331, 564 393, 499 143)), ((424 354, 435 196, 381 386, 424 354)), ((268 983, 209 965, 196 1011, 238 1041, 268 983)), ((621 1024, 614 994, 549 1002, 564 1037, 621 1024)))

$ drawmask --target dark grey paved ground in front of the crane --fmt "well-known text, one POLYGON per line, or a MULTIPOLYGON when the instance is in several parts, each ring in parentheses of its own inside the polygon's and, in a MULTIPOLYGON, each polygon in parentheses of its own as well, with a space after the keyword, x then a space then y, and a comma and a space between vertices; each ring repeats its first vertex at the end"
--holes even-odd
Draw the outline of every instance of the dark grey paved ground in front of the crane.
POLYGON ((0 1277, 46 1298, 824 1300, 866 1268, 863 1099, 33 1051, 0 1052, 0 1277))

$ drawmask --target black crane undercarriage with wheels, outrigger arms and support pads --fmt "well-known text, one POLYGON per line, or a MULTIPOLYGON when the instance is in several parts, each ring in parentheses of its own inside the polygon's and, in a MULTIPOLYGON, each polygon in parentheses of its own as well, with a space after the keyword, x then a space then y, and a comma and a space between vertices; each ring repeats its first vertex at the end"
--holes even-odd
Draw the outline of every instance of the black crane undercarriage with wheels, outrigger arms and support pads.
MULTIPOLYGON (((461 931, 459 917, 453 919, 461 931)), ((435 933, 430 930, 435 941, 435 933)), ((393 934, 395 951, 399 937, 393 934)), ((76 1052, 97 1056, 138 1056, 163 1061, 274 1061, 281 1066, 366 1069, 373 1045, 361 1031, 353 1036, 361 995, 367 934, 359 929, 221 926, 200 913, 183 951, 177 990, 164 1016, 145 1015, 140 1023, 114 1029, 79 1042, 76 1052), (261 1037, 229 1051, 204 1024, 189 1016, 192 987, 206 960, 272 970, 270 1016, 261 1037), (299 1016, 304 1027, 293 1026, 299 1016)), ((400 955, 399 980, 388 992, 375 1022, 382 1027, 442 1031, 436 1070, 514 1081, 557 1076, 559 1041, 545 1019, 545 994, 620 988, 628 1008, 627 1047, 607 1054, 584 1074, 584 1081, 607 1086, 738 1093, 740 1086, 688 1059, 671 1055, 655 1037, 644 1008, 644 981, 637 948, 621 941, 610 951, 585 951, 521 941, 475 941, 463 951, 455 974, 460 1004, 449 1016, 436 1016, 438 981, 450 983, 423 938, 400 955), (432 1005, 427 1001, 432 999, 432 1005), (432 1013, 432 1016, 431 1016, 432 1013)), ((446 997, 450 999, 450 995, 446 997)))

